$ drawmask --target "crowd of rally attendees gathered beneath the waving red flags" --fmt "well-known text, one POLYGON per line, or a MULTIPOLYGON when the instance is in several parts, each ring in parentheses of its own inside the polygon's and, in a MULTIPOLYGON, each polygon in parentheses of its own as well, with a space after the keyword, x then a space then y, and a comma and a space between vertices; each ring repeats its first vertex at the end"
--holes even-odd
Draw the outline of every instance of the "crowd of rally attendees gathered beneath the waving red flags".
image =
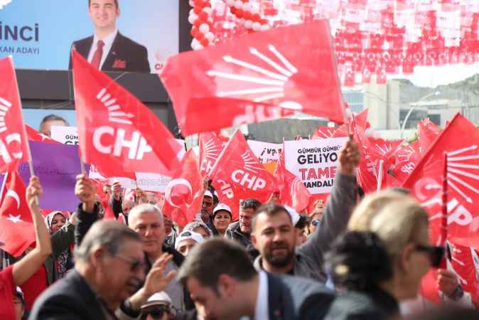
POLYGON ((43 218, 41 181, 32 177, 36 242, 18 259, 4 252, 0 319, 479 319, 473 309, 413 312, 437 312, 419 290, 431 267, 443 306, 459 308, 467 297, 456 274, 441 269, 444 250, 429 243, 426 211, 405 189, 364 196, 359 161, 350 139, 328 201, 311 212, 274 197, 237 199, 233 221, 209 187, 185 226, 163 215, 161 199, 139 189, 124 199, 118 182, 99 195, 85 175, 75 213, 43 218), (103 219, 105 195, 124 223, 103 219))

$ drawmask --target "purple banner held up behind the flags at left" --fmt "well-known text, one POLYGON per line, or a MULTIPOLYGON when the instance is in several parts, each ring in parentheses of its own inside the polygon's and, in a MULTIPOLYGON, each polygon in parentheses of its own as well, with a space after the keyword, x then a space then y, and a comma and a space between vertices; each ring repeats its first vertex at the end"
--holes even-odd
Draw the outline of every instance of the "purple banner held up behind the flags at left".
MULTIPOLYGON (((75 211, 75 176, 81 174, 78 146, 30 141, 33 170, 40 178, 43 196, 40 207, 47 210, 75 211)), ((28 164, 18 168, 25 184, 30 180, 28 164)))

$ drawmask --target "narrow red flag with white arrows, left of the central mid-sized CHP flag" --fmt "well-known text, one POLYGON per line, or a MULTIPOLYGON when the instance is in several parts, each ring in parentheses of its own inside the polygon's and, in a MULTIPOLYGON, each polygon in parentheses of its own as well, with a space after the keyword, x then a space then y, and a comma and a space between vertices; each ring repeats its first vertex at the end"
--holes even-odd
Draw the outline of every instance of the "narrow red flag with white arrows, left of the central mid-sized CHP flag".
POLYGON ((203 132, 200 134, 199 145, 201 176, 207 176, 226 143, 220 139, 216 132, 203 132))

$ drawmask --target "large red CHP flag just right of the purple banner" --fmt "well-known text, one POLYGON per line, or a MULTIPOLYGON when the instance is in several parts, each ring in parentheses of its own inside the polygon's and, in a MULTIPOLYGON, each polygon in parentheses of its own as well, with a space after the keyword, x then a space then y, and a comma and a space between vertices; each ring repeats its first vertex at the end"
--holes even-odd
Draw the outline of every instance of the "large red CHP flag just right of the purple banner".
POLYGON ((102 176, 145 171, 171 176, 181 146, 134 95, 72 51, 82 161, 102 176))

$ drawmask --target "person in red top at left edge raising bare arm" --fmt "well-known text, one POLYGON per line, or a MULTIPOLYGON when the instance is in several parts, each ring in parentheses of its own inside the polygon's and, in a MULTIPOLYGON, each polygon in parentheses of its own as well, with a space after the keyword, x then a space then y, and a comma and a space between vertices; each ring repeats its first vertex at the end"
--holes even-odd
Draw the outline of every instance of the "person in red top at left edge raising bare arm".
POLYGON ((50 233, 48 233, 38 207, 38 199, 41 198, 41 194, 40 181, 36 176, 32 176, 26 188, 26 201, 28 208, 31 210, 36 232, 36 247, 28 252, 23 259, 0 271, 0 319, 20 320, 17 316, 21 313, 16 313, 14 307, 16 286, 25 283, 52 253, 50 233))

